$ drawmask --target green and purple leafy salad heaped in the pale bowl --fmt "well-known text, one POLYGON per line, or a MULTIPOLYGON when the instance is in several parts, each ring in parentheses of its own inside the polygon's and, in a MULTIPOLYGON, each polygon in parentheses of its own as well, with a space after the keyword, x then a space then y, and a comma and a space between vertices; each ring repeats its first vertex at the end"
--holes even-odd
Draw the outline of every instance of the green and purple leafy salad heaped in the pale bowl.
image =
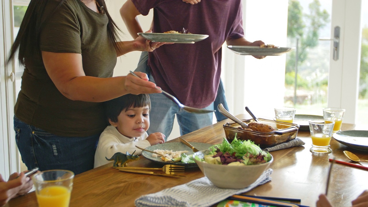
POLYGON ((251 140, 238 140, 236 137, 229 143, 224 138, 221 144, 209 148, 209 154, 204 158, 195 156, 198 161, 221 165, 255 165, 271 160, 271 155, 263 151, 251 140))

